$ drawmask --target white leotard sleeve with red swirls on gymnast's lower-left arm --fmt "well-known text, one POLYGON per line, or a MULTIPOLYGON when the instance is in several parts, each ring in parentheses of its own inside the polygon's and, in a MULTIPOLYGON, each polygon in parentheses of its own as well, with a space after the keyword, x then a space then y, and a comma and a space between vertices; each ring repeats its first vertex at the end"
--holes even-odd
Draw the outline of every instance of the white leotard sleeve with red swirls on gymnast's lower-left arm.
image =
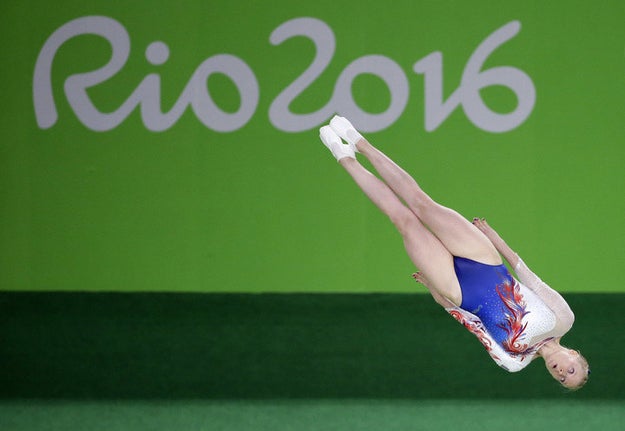
POLYGON ((521 371, 536 356, 537 349, 532 349, 529 353, 511 355, 490 336, 479 317, 460 307, 445 308, 445 310, 477 337, 490 357, 504 370, 511 373, 521 371))

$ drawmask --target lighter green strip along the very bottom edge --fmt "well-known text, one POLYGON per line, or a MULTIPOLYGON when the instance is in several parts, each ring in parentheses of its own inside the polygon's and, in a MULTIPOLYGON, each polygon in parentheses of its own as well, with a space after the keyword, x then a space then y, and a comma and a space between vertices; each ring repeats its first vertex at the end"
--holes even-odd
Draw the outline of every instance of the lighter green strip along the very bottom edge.
POLYGON ((622 431, 621 401, 297 400, 0 403, 5 431, 622 431))

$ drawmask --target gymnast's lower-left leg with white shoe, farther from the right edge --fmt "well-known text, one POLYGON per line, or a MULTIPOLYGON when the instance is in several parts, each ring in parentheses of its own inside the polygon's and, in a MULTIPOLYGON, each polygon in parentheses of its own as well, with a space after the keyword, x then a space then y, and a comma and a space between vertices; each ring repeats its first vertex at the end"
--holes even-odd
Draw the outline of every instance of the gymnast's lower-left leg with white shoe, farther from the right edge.
POLYGON ((353 150, 343 144, 330 128, 321 129, 321 139, 356 184, 395 225, 410 260, 427 274, 427 287, 434 299, 445 307, 459 305, 462 294, 454 271, 453 257, 445 246, 383 181, 355 159, 353 150))

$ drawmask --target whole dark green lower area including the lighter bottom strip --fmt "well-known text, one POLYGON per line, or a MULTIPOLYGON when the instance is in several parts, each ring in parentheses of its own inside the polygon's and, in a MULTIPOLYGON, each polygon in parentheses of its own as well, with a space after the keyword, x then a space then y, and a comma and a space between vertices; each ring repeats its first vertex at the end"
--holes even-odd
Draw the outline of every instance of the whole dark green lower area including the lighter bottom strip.
POLYGON ((0 430, 625 429, 625 295, 567 300, 573 393, 424 295, 0 292, 0 430))

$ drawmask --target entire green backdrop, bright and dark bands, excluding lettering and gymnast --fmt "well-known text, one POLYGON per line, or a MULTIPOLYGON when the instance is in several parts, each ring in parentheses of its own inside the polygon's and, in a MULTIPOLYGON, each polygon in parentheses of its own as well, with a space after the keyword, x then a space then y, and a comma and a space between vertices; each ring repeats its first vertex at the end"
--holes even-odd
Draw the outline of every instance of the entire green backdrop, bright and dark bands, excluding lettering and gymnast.
MULTIPOLYGON (((617 0, 2 2, 0 429, 621 429, 624 22, 617 0), (81 36, 55 57, 59 120, 39 129, 37 56, 89 15, 131 39, 125 67, 89 90, 102 111, 151 73, 168 110, 200 63, 226 53, 258 80, 253 117, 218 133, 187 110, 156 133, 137 109, 113 130, 89 130, 63 84, 111 48, 81 36), (271 103, 315 54, 305 38, 269 42, 297 17, 329 25, 336 51, 291 108, 324 106, 357 58, 397 62, 408 104, 367 137, 435 199, 487 217, 563 292, 576 313, 565 342, 593 371, 584 389, 564 392, 538 361, 499 369, 413 294, 424 290, 399 235, 321 145, 322 122, 297 133, 271 124, 271 103), (427 132, 413 65, 441 51, 448 97, 476 47, 513 20, 520 33, 484 67, 531 77, 529 118, 493 134, 458 108, 427 132), (161 66, 144 55, 157 40, 170 49, 161 66)), ((225 76, 207 86, 223 110, 238 109, 225 76)), ((369 112, 389 104, 374 76, 352 90, 369 112)), ((498 112, 516 106, 506 88, 481 95, 498 112)))

